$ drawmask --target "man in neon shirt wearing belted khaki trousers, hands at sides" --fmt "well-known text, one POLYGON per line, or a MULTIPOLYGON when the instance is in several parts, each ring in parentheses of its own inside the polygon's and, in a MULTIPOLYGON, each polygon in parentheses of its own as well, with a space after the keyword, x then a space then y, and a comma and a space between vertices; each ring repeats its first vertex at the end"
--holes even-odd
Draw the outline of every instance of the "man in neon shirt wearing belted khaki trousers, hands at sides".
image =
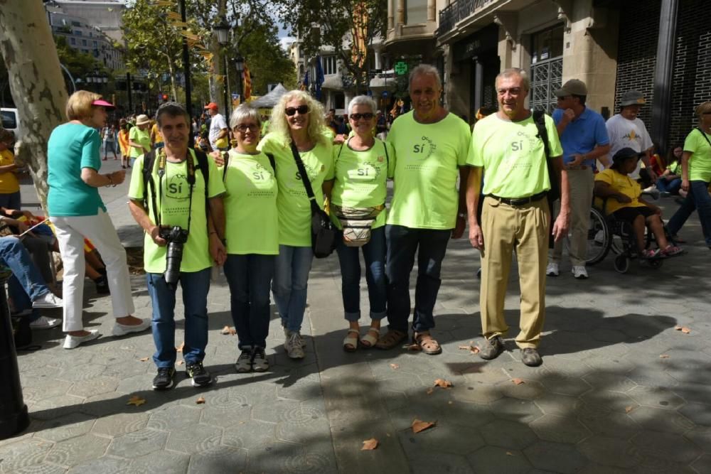
MULTIPOLYGON (((481 327, 485 343, 482 359, 493 359, 503 351, 501 336, 508 326, 503 303, 513 251, 518 259, 521 288, 521 331, 516 344, 525 365, 542 363, 538 355, 540 332, 545 318, 545 266, 547 264, 550 190, 545 146, 539 138, 533 114, 525 109, 528 77, 518 68, 496 76, 499 109, 474 125, 466 163, 472 166, 466 184, 469 240, 481 252, 481 327), (486 195, 481 222, 476 215, 482 172, 486 195)), ((560 177, 560 213, 552 233, 555 239, 567 235, 570 205, 568 183, 562 171, 563 154, 553 119, 543 116, 548 148, 560 177)))

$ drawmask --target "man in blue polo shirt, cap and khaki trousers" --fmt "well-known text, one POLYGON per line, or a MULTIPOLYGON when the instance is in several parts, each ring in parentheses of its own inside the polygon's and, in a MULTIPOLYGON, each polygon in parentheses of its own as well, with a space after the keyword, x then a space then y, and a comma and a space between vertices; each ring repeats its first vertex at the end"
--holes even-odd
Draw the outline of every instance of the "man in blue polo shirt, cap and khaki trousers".
MULTIPOLYGON (((592 204, 595 161, 607 167, 610 140, 602 115, 585 107, 587 87, 582 80, 571 79, 555 91, 558 108, 553 112, 560 144, 563 147, 563 166, 570 185, 570 262, 576 279, 586 279, 585 260, 590 205, 592 204)), ((560 203, 556 203, 556 210, 560 203)), ((558 240, 550 252, 545 273, 558 276, 563 241, 558 240)))

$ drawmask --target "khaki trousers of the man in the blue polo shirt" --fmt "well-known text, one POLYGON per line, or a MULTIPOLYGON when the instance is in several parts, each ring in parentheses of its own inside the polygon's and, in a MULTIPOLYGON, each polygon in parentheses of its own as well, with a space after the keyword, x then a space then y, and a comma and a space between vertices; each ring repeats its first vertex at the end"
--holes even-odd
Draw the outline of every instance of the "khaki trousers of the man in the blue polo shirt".
MULTIPOLYGON (((595 185, 592 168, 568 170, 570 185, 570 233, 568 252, 573 266, 585 266, 587 255, 587 231, 590 227, 590 206, 595 185)), ((560 212, 560 200, 555 201, 555 215, 560 212)), ((550 250, 550 262, 559 264, 563 254, 563 239, 555 242, 550 250)))

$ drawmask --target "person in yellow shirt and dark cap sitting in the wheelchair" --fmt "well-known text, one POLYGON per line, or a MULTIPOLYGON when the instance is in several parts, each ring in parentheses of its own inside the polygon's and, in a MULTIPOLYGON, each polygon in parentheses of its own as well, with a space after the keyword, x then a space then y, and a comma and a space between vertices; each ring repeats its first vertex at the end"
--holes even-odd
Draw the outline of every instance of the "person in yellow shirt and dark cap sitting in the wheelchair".
POLYGON ((641 257, 674 257, 682 254, 683 250, 668 241, 661 209, 641 198, 641 186, 629 176, 629 173, 636 170, 637 161, 643 154, 631 148, 621 149, 614 154, 612 166, 595 176, 595 204, 606 215, 629 222, 634 229, 641 257), (645 225, 653 233, 657 249, 645 249, 645 225))

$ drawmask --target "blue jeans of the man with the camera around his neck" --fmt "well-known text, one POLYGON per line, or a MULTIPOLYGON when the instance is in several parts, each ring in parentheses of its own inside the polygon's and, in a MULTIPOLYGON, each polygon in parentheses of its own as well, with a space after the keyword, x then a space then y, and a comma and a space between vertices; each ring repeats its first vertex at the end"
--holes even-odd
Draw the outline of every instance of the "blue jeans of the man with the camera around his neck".
MULTIPOLYGON (((146 273, 148 294, 153 305, 153 341, 156 366, 173 367, 176 363, 176 289, 171 289, 163 274, 146 273)), ((183 359, 187 365, 201 362, 208 345, 208 291, 210 269, 181 271, 180 284, 185 306, 185 345, 183 359)))

